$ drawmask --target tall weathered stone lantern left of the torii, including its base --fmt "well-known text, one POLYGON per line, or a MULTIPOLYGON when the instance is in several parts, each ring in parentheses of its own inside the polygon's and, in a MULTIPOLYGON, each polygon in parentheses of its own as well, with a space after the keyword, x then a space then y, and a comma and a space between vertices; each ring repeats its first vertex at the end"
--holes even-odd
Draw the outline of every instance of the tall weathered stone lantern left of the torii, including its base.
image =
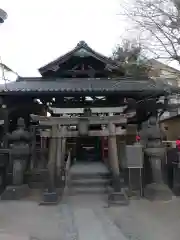
POLYGON ((11 134, 7 134, 10 142, 9 154, 12 162, 12 185, 8 186, 2 194, 1 199, 15 200, 20 199, 27 194, 28 186, 24 185, 24 171, 27 166, 28 157, 30 155, 31 136, 25 130, 23 118, 17 121, 17 128, 11 134))

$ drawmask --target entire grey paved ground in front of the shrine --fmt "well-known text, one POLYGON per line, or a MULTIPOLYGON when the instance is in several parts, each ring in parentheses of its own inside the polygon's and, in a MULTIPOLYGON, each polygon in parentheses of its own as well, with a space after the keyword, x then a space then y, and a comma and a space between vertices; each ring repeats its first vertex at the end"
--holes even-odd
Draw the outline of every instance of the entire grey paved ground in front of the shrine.
POLYGON ((180 199, 111 208, 105 195, 65 197, 58 206, 1 201, 0 229, 22 240, 179 240, 180 199))

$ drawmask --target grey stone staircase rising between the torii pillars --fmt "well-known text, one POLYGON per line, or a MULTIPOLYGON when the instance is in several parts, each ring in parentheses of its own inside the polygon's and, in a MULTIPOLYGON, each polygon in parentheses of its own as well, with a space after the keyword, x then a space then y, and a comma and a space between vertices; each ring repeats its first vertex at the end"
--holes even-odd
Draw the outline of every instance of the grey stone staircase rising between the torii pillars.
POLYGON ((104 194, 110 174, 103 163, 76 163, 70 170, 69 194, 104 194))

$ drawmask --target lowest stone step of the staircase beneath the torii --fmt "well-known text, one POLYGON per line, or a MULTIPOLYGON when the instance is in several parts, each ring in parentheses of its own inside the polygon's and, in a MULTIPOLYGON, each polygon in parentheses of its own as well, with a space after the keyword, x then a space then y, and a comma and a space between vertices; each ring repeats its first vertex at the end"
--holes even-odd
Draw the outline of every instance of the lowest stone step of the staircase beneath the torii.
POLYGON ((104 187, 72 187, 69 189, 70 195, 77 194, 103 194, 106 193, 107 189, 104 187))

